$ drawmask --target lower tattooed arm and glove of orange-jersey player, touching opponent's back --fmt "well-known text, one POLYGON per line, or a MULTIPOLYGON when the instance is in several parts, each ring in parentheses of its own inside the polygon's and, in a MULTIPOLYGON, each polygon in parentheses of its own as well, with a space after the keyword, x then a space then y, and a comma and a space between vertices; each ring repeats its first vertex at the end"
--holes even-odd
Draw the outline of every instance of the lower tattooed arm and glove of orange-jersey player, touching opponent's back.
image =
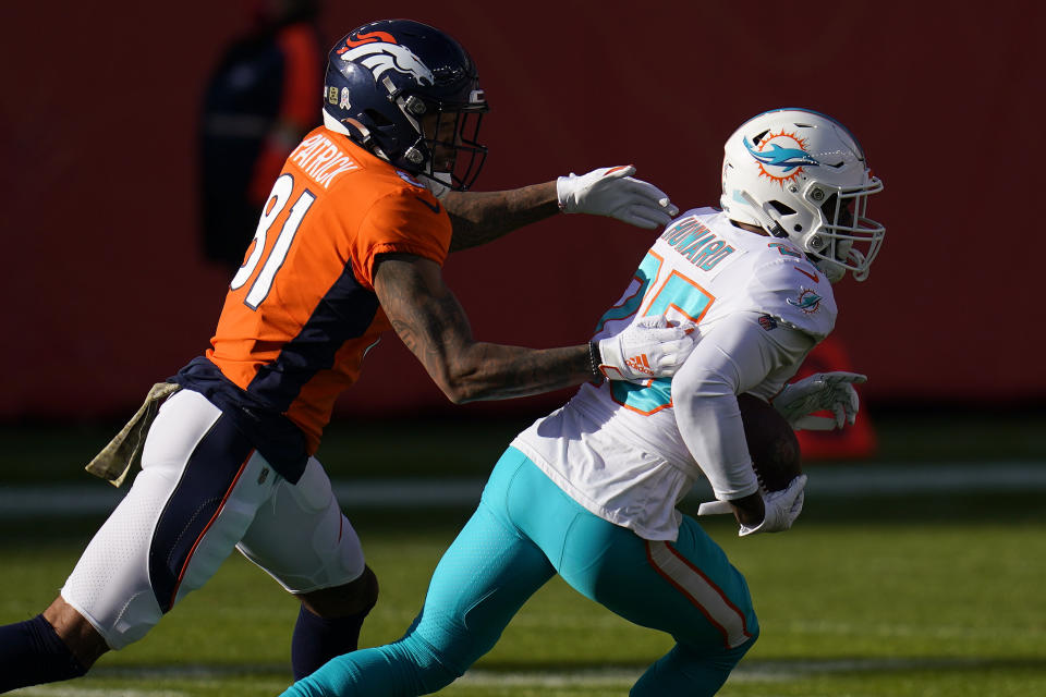
POLYGON ((589 342, 526 348, 479 342, 473 339, 469 318, 435 261, 406 254, 382 255, 374 279, 375 292, 396 333, 447 398, 459 404, 550 392, 601 380, 603 374, 621 379, 668 376, 679 369, 694 345, 686 328, 654 326, 631 332, 624 344, 619 339, 604 340, 617 342, 612 346, 589 342), (642 372, 636 372, 635 366, 642 372))

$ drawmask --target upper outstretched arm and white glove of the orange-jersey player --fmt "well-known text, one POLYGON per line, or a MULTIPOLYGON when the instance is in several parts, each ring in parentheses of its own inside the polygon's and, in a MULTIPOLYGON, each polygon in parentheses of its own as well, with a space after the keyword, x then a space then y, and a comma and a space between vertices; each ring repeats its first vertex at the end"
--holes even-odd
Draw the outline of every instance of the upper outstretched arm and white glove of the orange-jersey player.
POLYGON ((608 216, 646 230, 668 224, 679 209, 634 173, 631 164, 606 167, 503 192, 449 192, 441 200, 454 228, 450 249, 492 242, 559 211, 608 216))

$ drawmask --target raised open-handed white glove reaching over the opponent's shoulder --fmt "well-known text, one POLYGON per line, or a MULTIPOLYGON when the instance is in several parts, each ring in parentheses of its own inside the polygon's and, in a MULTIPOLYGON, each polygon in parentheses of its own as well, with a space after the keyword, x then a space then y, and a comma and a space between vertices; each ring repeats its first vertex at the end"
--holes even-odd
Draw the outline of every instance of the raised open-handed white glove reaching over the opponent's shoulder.
POLYGON ((635 167, 605 167, 556 180, 559 207, 567 213, 609 216, 653 230, 679 215, 668 195, 653 184, 633 179, 635 167))

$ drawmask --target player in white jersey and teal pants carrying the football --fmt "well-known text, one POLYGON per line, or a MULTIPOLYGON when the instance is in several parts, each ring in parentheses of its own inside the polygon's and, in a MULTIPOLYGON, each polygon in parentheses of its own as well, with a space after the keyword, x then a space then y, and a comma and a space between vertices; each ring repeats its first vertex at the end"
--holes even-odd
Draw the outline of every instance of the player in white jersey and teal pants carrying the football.
POLYGON ((823 408, 836 411, 832 426, 852 423, 863 376, 787 380, 835 325, 831 283, 867 277, 884 228, 866 205, 880 189, 856 139, 828 117, 781 109, 744 123, 726 144, 722 209, 677 218, 596 330, 695 322, 701 338, 680 371, 582 386, 520 433, 406 635, 337 658, 284 696, 436 692, 556 573, 676 639, 634 697, 715 694, 758 623, 744 577, 676 504, 704 476, 711 508, 732 511, 741 536, 786 530, 799 515, 805 476, 761 490, 737 395, 771 401, 793 426, 823 408))

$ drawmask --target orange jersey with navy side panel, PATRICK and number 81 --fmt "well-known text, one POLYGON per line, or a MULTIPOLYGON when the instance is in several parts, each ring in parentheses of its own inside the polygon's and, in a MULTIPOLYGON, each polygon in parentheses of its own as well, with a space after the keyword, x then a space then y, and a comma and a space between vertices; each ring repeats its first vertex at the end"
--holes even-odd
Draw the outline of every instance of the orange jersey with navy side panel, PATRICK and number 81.
POLYGON ((174 379, 235 414, 296 481, 336 398, 390 329, 374 292, 375 256, 441 265, 450 237, 450 218, 422 183, 348 138, 313 131, 272 187, 206 357, 174 379))

